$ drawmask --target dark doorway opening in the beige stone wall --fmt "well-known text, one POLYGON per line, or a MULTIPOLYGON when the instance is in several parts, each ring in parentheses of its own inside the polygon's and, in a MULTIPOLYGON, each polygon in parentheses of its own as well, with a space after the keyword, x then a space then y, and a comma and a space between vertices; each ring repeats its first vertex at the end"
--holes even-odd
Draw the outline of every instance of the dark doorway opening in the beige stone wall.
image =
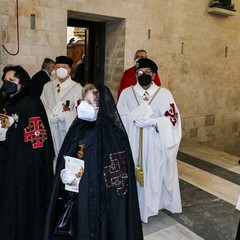
POLYGON ((83 41, 69 42, 67 46, 67 54, 74 63, 72 78, 74 78, 76 64, 84 54, 84 84, 104 84, 106 23, 69 18, 68 26, 85 29, 83 41))

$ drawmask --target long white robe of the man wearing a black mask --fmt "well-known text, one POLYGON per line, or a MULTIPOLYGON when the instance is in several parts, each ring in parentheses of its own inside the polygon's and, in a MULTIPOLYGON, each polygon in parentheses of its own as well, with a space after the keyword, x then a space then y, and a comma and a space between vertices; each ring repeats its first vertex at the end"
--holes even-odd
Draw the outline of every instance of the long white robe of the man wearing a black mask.
MULTIPOLYGON (((158 90, 154 83, 148 92, 149 101, 158 90)), ((137 83, 133 86, 139 104, 143 102, 145 90, 137 83)), ((139 130, 132 114, 138 103, 132 88, 126 88, 120 95, 117 108, 128 133, 135 166, 138 163, 139 130)), ((172 213, 182 212, 177 169, 177 152, 181 141, 181 119, 178 108, 169 90, 161 88, 150 103, 151 118, 157 125, 143 128, 142 168, 144 186, 137 182, 141 219, 157 215, 160 209, 172 213)))

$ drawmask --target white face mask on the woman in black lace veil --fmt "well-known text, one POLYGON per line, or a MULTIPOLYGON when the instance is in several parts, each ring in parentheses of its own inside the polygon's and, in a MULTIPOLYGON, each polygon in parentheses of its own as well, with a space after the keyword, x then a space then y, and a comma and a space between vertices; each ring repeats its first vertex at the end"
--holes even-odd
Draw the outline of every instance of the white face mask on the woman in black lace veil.
MULTIPOLYGON (((96 108, 98 110, 98 108, 96 108)), ((78 118, 86 121, 95 121, 97 113, 94 107, 86 101, 82 101, 77 107, 78 118)))

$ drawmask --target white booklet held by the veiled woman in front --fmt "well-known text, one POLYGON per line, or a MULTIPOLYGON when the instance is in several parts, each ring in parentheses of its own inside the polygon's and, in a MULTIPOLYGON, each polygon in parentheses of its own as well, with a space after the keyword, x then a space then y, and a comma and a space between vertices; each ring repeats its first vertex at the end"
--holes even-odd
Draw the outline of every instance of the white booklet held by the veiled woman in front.
POLYGON ((78 192, 78 185, 81 180, 82 174, 84 173, 84 161, 70 156, 64 156, 65 159, 65 169, 70 170, 75 176, 76 179, 72 182, 71 185, 65 184, 65 190, 71 192, 78 192))

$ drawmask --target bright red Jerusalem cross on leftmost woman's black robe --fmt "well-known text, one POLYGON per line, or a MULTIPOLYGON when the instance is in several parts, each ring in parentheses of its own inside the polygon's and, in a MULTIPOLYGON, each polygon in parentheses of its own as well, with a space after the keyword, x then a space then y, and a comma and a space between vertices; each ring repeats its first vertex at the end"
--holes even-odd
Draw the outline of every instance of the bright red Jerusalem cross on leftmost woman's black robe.
POLYGON ((29 118, 29 124, 24 128, 24 142, 30 141, 33 148, 43 147, 47 139, 47 131, 40 117, 29 118))

